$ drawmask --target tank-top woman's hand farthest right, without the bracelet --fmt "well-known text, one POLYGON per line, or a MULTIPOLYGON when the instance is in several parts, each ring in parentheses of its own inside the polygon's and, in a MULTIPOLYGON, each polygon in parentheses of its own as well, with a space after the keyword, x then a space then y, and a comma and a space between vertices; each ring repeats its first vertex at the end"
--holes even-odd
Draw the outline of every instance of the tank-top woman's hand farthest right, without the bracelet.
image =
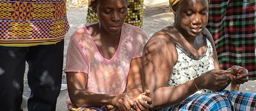
POLYGON ((246 68, 234 65, 228 69, 228 73, 230 74, 230 79, 236 84, 243 84, 249 80, 249 72, 246 68))

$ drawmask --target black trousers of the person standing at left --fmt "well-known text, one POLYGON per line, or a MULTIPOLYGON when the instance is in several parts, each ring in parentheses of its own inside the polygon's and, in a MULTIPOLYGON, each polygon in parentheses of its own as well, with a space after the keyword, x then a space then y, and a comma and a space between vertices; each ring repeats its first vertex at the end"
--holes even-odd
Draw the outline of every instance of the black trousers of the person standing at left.
POLYGON ((20 111, 28 62, 29 111, 55 111, 61 87, 64 40, 52 45, 0 46, 0 111, 20 111))

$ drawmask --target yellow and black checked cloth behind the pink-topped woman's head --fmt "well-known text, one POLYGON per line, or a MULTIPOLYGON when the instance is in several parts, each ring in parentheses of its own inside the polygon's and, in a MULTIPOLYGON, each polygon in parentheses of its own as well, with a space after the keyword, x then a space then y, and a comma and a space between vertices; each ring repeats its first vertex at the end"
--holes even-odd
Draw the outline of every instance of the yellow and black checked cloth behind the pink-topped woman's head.
MULTIPOLYGON (((91 0, 89 0, 91 1, 91 0)), ((128 9, 124 22, 142 28, 143 2, 144 0, 127 0, 128 9)), ((90 3, 90 2, 89 2, 90 3)), ((98 16, 92 7, 88 7, 86 23, 98 22, 98 16)))

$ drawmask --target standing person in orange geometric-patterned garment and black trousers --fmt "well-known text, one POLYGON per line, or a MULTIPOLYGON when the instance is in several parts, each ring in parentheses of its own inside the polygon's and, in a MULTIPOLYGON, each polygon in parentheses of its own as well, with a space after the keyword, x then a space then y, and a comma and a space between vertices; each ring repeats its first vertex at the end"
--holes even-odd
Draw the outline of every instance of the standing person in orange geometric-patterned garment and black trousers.
POLYGON ((55 111, 69 30, 66 0, 0 1, 0 110, 21 111, 26 62, 29 111, 55 111))

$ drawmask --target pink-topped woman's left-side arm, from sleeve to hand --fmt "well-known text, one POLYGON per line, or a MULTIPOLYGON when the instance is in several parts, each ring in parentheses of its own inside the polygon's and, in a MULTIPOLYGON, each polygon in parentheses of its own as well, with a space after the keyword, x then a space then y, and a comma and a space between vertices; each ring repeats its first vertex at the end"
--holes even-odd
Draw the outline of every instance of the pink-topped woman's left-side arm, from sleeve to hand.
POLYGON ((67 72, 67 85, 72 104, 83 107, 113 105, 118 111, 128 110, 134 102, 127 94, 96 94, 85 89, 87 74, 67 72))

